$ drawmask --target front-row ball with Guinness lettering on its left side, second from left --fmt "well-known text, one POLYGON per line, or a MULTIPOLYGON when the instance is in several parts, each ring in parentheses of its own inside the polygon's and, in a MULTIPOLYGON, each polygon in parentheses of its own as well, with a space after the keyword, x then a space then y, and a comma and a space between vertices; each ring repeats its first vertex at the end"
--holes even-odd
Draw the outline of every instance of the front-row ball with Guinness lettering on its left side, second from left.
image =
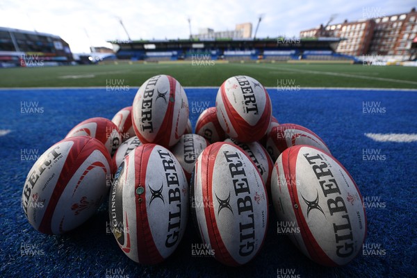
POLYGON ((117 169, 108 210, 111 231, 133 261, 154 264, 179 245, 188 217, 188 183, 174 154, 144 144, 117 169))

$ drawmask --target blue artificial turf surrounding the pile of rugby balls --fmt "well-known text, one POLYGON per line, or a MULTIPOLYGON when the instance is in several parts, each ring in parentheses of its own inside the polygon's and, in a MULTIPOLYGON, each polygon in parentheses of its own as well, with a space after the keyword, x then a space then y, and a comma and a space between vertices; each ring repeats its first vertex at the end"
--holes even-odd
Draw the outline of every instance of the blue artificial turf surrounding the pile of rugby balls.
MULTIPOLYGON (((106 233, 106 204, 87 223, 63 236, 38 233, 28 224, 20 197, 35 162, 22 161, 22 149, 39 155, 89 117, 107 117, 131 106, 136 89, 0 90, 0 277, 416 277, 417 142, 375 142, 364 133, 417 133, 417 92, 395 90, 268 90, 281 123, 301 124, 318 134, 349 170, 370 202, 367 208, 370 255, 349 265, 325 268, 306 258, 286 236, 277 235, 272 206, 267 238, 259 256, 240 268, 208 257, 195 257, 199 243, 189 219, 186 234, 167 261, 138 265, 106 233), (38 101, 43 113, 22 113, 22 101, 38 101), (363 101, 380 101, 384 113, 363 113, 363 101), (363 149, 379 150, 377 161, 364 161, 363 149), (382 159, 384 157, 384 159, 382 159), (378 202, 375 202, 375 198, 378 202), (22 255, 24 244, 33 256, 22 255), (291 277, 291 276, 288 276, 291 277)), ((186 89, 195 126, 202 107, 215 105, 215 89, 186 89)))

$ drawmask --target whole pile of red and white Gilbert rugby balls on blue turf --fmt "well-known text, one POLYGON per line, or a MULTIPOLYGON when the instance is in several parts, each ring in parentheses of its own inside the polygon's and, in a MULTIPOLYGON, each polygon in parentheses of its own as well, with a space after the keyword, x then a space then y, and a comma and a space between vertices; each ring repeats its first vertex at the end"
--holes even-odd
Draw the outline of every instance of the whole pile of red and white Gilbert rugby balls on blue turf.
POLYGON ((113 120, 85 120, 44 152, 22 204, 35 229, 63 234, 107 196, 117 244, 138 263, 174 252, 190 210, 215 259, 243 265, 261 251, 271 200, 279 221, 299 228, 293 243, 322 265, 350 262, 366 237, 350 174, 313 131, 279 124, 268 92, 250 76, 224 81, 195 134, 181 84, 153 76, 113 120))

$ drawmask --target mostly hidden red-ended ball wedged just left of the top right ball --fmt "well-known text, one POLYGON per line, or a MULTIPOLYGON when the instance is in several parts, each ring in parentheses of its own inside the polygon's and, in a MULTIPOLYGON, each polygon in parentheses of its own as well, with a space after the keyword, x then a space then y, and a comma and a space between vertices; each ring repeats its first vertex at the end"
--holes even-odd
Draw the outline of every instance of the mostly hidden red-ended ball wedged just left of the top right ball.
POLYGON ((211 143, 226 139, 226 133, 220 126, 217 117, 217 108, 209 107, 199 115, 197 124, 195 124, 195 133, 203 136, 211 143))

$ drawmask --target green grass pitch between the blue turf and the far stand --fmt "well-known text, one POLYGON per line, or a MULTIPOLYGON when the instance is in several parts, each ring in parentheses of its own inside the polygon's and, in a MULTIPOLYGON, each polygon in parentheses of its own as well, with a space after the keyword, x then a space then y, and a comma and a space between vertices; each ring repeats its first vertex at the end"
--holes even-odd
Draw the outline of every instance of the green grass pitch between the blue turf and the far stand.
POLYGON ((170 74, 183 86, 216 87, 230 76, 244 74, 266 87, 417 88, 417 67, 220 62, 206 66, 124 63, 0 69, 0 88, 105 87, 115 83, 138 87, 156 74, 170 74))

